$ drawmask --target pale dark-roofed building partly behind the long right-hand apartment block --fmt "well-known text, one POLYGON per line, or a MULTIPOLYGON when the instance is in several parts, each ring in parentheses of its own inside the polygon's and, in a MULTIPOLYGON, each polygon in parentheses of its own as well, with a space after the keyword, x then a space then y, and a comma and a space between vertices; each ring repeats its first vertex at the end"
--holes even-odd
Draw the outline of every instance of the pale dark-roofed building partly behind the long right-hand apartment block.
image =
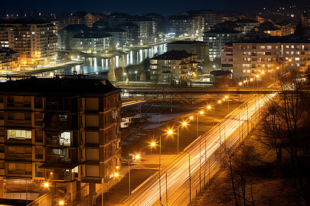
POLYGON ((210 30, 203 33, 203 42, 209 47, 210 60, 221 57, 221 49, 226 43, 238 41, 242 33, 231 29, 210 30))

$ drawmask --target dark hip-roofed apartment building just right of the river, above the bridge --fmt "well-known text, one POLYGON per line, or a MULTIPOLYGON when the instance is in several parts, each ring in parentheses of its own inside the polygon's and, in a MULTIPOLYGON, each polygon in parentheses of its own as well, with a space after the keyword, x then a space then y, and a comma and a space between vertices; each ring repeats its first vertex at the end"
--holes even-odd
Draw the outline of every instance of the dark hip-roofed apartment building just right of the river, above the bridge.
POLYGON ((169 51, 151 58, 149 69, 154 82, 191 78, 197 71, 197 55, 185 51, 169 51))

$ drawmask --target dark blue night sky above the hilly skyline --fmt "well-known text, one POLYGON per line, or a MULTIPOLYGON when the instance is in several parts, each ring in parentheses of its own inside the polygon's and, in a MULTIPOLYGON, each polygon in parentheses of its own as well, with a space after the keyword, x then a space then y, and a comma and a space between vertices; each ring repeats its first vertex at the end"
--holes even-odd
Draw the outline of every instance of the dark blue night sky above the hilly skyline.
POLYGON ((39 0, 1 0, 0 8, 6 9, 10 14, 12 12, 18 13, 19 8, 22 7, 27 13, 34 8, 37 12, 62 12, 70 11, 76 12, 78 10, 85 10, 90 12, 127 12, 129 14, 145 14, 147 12, 157 12, 159 14, 169 15, 178 14, 184 10, 197 10, 202 8, 224 11, 234 10, 237 12, 256 12, 258 9, 267 6, 268 4, 276 6, 284 5, 306 5, 309 4, 308 0, 157 0, 157 1, 129 1, 129 0, 54 0, 54 1, 39 1, 39 0))

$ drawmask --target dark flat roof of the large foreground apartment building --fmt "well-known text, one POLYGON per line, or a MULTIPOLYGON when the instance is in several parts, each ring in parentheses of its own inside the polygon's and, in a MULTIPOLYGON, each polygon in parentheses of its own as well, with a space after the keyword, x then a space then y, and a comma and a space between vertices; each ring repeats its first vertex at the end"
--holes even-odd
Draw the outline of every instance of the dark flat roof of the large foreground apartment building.
MULTIPOLYGON (((81 77, 81 76, 80 76, 81 77)), ((40 96, 102 96, 121 92, 108 80, 79 78, 23 78, 0 82, 0 95, 40 95, 40 96)))

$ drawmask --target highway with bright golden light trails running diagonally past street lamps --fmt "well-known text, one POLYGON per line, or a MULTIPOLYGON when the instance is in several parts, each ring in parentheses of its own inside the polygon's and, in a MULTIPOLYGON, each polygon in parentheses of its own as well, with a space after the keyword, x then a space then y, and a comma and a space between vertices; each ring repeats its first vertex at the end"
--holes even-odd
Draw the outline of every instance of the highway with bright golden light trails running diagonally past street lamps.
POLYGON ((208 133, 200 135, 165 168, 141 184, 120 205, 188 205, 219 168, 214 152, 223 152, 222 145, 231 148, 242 141, 254 128, 259 113, 273 96, 255 95, 241 104, 208 133))

